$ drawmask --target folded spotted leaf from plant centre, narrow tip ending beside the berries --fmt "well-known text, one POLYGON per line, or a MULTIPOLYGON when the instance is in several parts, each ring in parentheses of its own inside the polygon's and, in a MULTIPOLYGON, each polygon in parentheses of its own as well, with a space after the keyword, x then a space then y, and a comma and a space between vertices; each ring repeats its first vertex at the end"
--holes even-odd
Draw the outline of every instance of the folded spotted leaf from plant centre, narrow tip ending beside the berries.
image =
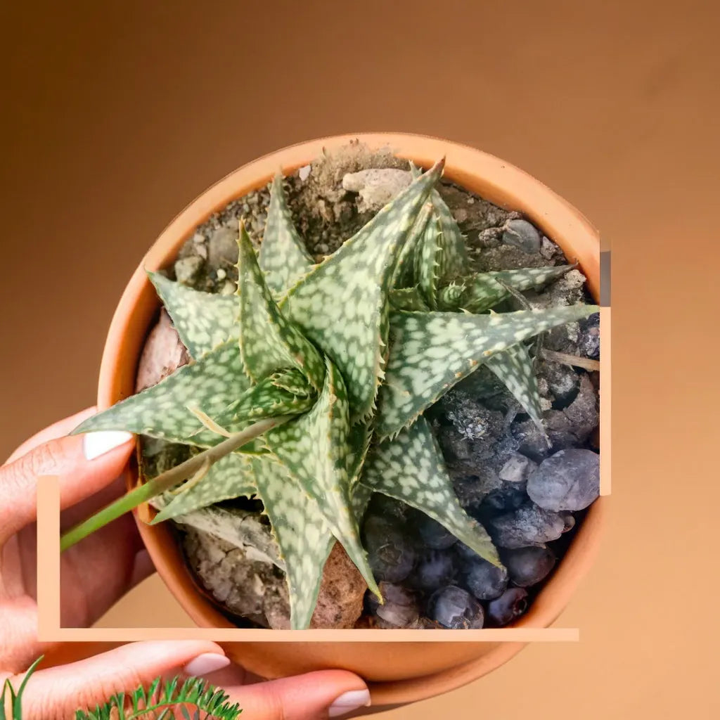
POLYGON ((312 409, 265 435, 266 446, 318 503, 368 587, 378 592, 360 542, 348 478, 348 395, 336 366, 327 361, 325 384, 312 409))

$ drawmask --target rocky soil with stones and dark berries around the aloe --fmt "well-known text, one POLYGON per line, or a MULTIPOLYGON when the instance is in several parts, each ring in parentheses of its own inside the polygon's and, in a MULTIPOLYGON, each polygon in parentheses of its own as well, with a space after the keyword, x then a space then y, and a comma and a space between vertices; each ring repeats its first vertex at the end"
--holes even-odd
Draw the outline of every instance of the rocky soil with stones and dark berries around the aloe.
MULTIPOLYGON (((315 261, 320 261, 354 235, 387 202, 388 193, 397 192, 409 181, 406 161, 395 158, 390 151, 372 153, 363 145, 351 143, 341 152, 300 168, 285 179, 284 186, 307 249, 315 261), (373 172, 364 172, 368 170, 373 172)), ((449 182, 442 182, 438 189, 467 238, 471 271, 567 264, 560 248, 519 213, 503 210, 449 182)), ((238 222, 244 217, 253 243, 259 246, 268 204, 266 188, 230 202, 195 230, 174 266, 168 268, 168 274, 207 292, 235 292, 238 222)), ((498 309, 592 302, 585 277, 577 269, 541 292, 524 295, 524 301, 513 298, 498 309)), ((154 384, 153 379, 158 382, 164 374, 172 372, 173 364, 184 364, 187 357, 182 349, 174 328, 166 316, 161 317, 148 338, 138 389, 154 384)), ((485 524, 500 547, 503 562, 509 554, 508 567, 525 563, 521 568, 525 575, 517 571, 498 580, 500 585, 496 585, 503 590, 494 598, 486 598, 484 595, 492 595, 484 589, 490 581, 483 575, 485 569, 477 562, 479 558, 472 557, 472 551, 459 546, 451 537, 438 540, 442 528, 439 533, 437 528, 428 529, 427 518, 420 517, 415 510, 374 496, 366 514, 366 527, 374 518, 392 518, 401 529, 400 550, 412 553, 412 568, 400 580, 384 583, 384 591, 391 600, 383 609, 365 598, 363 611, 364 583, 361 579, 358 582, 359 574, 344 551, 333 552, 325 568, 312 626, 448 626, 444 621, 447 608, 462 602, 467 602, 469 608, 466 618, 474 613, 472 622, 480 618, 481 624, 498 626, 510 624, 525 610, 562 558, 574 526, 585 510, 580 508, 572 513, 542 508, 528 495, 528 478, 540 472, 544 467, 541 463, 549 458, 554 458, 553 462, 560 464, 562 470, 562 462, 570 461, 560 451, 582 449, 591 451, 593 456, 598 451, 599 374, 595 369, 565 364, 557 356, 576 356, 585 366, 588 359, 597 361, 598 315, 544 333, 535 350, 544 431, 523 413, 495 376, 482 367, 426 412, 460 502, 469 514, 485 524), (523 555, 520 549, 526 546, 545 547, 546 554, 535 557, 537 553, 531 551, 523 555), (513 553, 518 553, 517 559, 510 557, 513 553), (540 580, 528 585, 519 579, 528 577, 531 571, 539 573, 538 563, 547 566, 540 580), (449 592, 447 588, 456 590, 449 592)), ((188 452, 184 446, 168 446, 145 438, 143 472, 151 477, 180 462, 188 452)), ((593 462, 590 458, 591 465, 593 462)), ((588 472, 592 473, 593 468, 588 472)), ((228 510, 228 522, 232 522, 233 511, 251 510, 261 517, 258 501, 238 499, 218 506, 228 510)), ((176 527, 199 586, 228 616, 238 624, 288 626, 287 588, 281 570, 248 557, 246 548, 229 544, 207 531, 180 523, 176 527)))

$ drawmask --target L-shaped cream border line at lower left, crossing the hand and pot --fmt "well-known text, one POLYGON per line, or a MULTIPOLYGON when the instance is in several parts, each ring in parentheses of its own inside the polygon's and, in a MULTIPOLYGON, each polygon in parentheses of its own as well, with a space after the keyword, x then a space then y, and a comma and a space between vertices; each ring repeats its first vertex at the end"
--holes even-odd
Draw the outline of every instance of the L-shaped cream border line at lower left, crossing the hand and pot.
POLYGON ((40 642, 578 642, 578 628, 482 630, 264 630, 241 628, 63 628, 60 626, 60 486, 37 480, 37 639, 40 642))

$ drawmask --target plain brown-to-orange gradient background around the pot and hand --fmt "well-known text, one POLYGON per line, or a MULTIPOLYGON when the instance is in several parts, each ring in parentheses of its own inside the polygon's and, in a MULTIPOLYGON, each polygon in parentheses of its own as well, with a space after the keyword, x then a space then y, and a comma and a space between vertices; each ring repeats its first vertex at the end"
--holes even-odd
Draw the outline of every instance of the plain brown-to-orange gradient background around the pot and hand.
MULTIPOLYGON (((337 132, 474 145, 611 240, 611 527, 559 621, 580 644, 535 644, 387 717, 719 716, 715 4, 16 5, 0 22, 0 454, 94 402, 130 273, 228 171, 337 132)), ((156 577, 112 613, 186 622, 156 577)))

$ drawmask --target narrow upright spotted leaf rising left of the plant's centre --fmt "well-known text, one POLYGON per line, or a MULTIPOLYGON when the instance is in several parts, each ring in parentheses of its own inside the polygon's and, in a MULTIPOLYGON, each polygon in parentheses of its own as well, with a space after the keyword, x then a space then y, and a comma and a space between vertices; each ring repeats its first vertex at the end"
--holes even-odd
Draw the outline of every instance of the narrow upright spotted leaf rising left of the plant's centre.
POLYGON ((320 390, 325 371, 323 359, 277 307, 242 223, 238 240, 238 295, 240 351, 253 382, 276 370, 295 367, 320 390))

